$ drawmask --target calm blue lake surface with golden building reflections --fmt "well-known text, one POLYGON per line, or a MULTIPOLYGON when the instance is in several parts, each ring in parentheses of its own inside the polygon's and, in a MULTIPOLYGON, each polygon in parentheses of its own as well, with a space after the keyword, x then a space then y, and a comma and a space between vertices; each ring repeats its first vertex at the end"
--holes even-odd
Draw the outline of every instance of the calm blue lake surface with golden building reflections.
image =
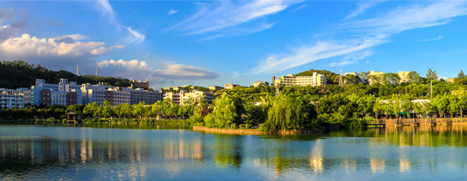
POLYGON ((0 180, 466 179, 466 125, 321 136, 87 126, 0 125, 0 180))

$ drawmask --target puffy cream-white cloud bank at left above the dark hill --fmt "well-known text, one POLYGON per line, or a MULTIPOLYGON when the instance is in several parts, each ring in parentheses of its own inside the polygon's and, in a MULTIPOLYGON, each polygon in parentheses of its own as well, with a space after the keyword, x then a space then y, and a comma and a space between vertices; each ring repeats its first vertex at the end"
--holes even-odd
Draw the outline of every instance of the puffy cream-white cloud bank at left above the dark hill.
POLYGON ((54 38, 37 38, 23 34, 0 42, 0 56, 39 63, 52 69, 70 70, 77 64, 82 68, 92 68, 92 57, 106 54, 110 49, 123 48, 121 45, 105 47, 104 42, 82 41, 85 38, 86 36, 80 34, 54 38))

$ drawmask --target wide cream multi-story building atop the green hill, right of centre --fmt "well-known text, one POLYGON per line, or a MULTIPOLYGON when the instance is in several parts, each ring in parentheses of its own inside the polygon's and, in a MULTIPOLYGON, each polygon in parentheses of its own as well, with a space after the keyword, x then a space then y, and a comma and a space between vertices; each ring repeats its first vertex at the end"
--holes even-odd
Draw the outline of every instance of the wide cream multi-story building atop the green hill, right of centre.
POLYGON ((326 86, 328 79, 323 74, 313 72, 312 76, 294 76, 293 74, 287 74, 279 78, 273 77, 274 85, 284 86, 326 86))

